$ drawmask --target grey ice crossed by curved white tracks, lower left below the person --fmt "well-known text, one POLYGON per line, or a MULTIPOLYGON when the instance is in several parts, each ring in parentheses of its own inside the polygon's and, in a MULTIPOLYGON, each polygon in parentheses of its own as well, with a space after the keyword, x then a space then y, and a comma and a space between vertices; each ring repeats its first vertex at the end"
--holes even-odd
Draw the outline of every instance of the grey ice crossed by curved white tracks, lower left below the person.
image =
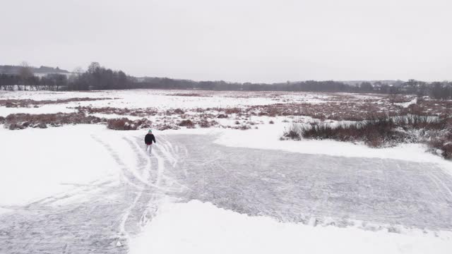
POLYGON ((121 181, 96 181, 0 215, 1 254, 126 253, 129 237, 153 217, 160 200, 184 190, 165 176, 174 161, 167 157, 167 145, 155 147, 149 158, 141 138, 125 138, 129 147, 122 149, 136 154, 136 167, 130 168, 121 161, 120 150, 93 138, 121 166, 121 181), (71 198, 77 201, 66 202, 71 198))

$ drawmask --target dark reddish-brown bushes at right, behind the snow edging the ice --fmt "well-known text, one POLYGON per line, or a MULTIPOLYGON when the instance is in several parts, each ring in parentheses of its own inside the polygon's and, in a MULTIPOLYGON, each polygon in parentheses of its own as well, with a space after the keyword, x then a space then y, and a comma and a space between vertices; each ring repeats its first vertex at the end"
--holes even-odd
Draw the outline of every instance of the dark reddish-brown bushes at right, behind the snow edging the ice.
POLYGON ((339 141, 361 141, 370 147, 384 147, 398 143, 427 143, 432 149, 441 150, 441 155, 452 158, 452 119, 432 116, 386 116, 379 119, 311 125, 294 124, 283 134, 283 139, 301 140, 332 139, 339 141))

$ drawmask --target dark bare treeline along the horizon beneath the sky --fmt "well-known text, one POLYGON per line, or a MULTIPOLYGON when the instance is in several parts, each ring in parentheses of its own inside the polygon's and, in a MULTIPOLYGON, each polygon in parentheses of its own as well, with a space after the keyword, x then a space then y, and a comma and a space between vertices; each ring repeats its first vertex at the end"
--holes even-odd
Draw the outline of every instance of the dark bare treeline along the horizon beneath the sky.
POLYGON ((287 83, 227 83, 225 81, 194 81, 171 78, 134 78, 123 71, 100 66, 93 62, 88 70, 71 75, 33 75, 28 66, 20 66, 18 74, 0 74, 0 90, 119 90, 119 89, 178 89, 222 91, 287 91, 287 92, 374 92, 383 94, 410 94, 435 99, 452 99, 451 82, 425 83, 418 80, 398 82, 362 82, 349 85, 343 82, 307 80, 287 83))

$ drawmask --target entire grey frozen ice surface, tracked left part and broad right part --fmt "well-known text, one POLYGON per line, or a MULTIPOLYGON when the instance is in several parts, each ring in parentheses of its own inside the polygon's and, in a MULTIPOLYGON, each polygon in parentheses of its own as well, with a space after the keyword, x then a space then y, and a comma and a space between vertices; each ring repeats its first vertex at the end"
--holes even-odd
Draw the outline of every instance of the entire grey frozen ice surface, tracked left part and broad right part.
POLYGON ((127 253, 160 202, 201 200, 281 222, 366 230, 452 230, 452 177, 434 164, 215 145, 208 135, 142 137, 114 147, 120 181, 99 179, 0 214, 0 253, 127 253), (136 155, 133 167, 121 150, 136 155), (120 246, 117 244, 120 243, 120 246))

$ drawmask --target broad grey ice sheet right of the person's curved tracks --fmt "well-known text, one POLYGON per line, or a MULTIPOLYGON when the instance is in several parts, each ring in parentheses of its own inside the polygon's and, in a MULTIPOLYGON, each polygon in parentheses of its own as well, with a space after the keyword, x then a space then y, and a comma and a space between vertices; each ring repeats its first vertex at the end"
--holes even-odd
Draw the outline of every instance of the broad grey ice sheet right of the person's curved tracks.
POLYGON ((434 164, 224 147, 201 135, 168 139, 189 144, 175 171, 189 199, 283 222, 333 217, 452 229, 452 178, 434 164))

